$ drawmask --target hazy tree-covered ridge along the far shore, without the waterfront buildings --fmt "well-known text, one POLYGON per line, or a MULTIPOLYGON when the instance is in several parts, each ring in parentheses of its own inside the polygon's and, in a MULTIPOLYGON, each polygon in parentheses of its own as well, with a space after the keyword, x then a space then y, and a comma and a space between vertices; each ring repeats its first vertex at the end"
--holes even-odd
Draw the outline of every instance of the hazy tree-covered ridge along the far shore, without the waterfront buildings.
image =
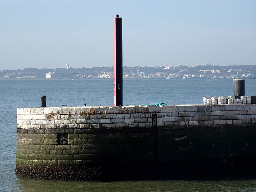
MULTIPOLYGON (((158 67, 146 67, 146 66, 134 66, 134 67, 128 67, 123 66, 123 74, 124 75, 134 75, 137 76, 140 74, 141 76, 146 76, 150 74, 154 74, 157 72, 165 72, 167 74, 171 73, 180 73, 182 75, 184 74, 195 74, 200 75, 204 72, 200 70, 219 70, 219 74, 222 74, 224 76, 230 76, 230 75, 237 75, 237 74, 247 74, 248 71, 252 72, 250 73, 251 76, 255 77, 255 65, 227 65, 227 66, 220 66, 220 65, 198 65, 195 67, 191 67, 188 65, 180 65, 178 67, 171 66, 170 68, 166 69, 166 66, 158 66, 158 67), (238 70, 238 71, 237 71, 238 70)), ((35 76, 37 78, 44 78, 45 73, 51 73, 52 77, 55 78, 72 78, 76 77, 79 74, 79 77, 88 77, 88 75, 98 75, 103 73, 110 73, 114 72, 114 67, 90 67, 90 68, 72 68, 69 69, 66 68, 25 68, 25 69, 16 69, 16 70, 0 70, 0 78, 3 78, 4 75, 9 75, 10 78, 17 78, 17 77, 25 77, 25 76, 35 76)), ((211 72, 208 72, 206 77, 213 76, 211 72)))

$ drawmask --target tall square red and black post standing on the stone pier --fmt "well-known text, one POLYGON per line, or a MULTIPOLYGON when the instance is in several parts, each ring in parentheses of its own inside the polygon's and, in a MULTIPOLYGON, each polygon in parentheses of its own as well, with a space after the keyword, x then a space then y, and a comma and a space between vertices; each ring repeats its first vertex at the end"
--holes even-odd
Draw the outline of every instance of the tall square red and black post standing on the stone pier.
POLYGON ((123 18, 114 18, 114 106, 123 105, 123 18))

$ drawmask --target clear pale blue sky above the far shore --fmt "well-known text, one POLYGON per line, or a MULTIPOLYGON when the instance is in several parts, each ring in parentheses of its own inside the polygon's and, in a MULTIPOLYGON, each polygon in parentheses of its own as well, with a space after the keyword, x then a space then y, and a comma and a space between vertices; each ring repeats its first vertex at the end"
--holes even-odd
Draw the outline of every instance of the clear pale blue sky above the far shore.
POLYGON ((255 0, 0 0, 0 70, 123 65, 255 65, 255 0))

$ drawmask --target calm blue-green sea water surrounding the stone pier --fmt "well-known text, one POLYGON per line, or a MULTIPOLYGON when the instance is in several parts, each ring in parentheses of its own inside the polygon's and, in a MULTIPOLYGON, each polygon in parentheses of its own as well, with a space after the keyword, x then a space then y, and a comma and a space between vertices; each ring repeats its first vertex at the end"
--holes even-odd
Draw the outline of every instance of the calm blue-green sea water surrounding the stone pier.
MULTIPOLYGON (((245 95, 256 95, 255 80, 245 80, 245 95)), ((84 182, 33 180, 15 175, 16 112, 19 107, 112 106, 113 79, 0 79, 0 191, 256 191, 256 173, 248 177, 195 180, 84 182)), ((124 79, 123 105, 165 102, 202 104, 203 96, 232 96, 232 79, 124 79)))

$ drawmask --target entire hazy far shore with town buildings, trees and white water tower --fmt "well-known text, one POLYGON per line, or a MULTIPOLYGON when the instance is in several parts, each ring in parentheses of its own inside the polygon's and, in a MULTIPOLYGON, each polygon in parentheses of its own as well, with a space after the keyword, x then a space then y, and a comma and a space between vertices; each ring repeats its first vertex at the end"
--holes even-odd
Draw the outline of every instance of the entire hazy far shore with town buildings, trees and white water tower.
MULTIPOLYGON (((186 65, 172 66, 123 66, 123 78, 256 78, 255 65, 186 65)), ((87 79, 87 78, 113 78, 114 67, 72 68, 66 64, 64 68, 25 68, 17 70, 0 70, 3 79, 87 79)))

